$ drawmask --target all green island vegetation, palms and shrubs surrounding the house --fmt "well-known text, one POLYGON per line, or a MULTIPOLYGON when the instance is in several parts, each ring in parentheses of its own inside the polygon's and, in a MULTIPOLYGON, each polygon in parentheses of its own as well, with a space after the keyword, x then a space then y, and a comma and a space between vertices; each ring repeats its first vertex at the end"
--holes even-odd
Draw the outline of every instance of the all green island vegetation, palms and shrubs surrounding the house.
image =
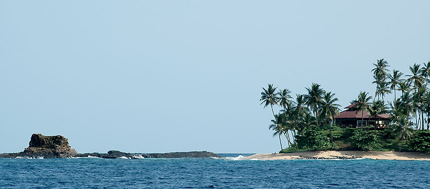
POLYGON ((377 125, 363 125, 363 115, 357 128, 337 126, 338 99, 319 84, 312 84, 306 88, 307 94, 294 98, 288 89, 278 90, 271 84, 263 88, 260 101, 264 107, 271 107, 274 119, 269 129, 279 138, 281 152, 327 149, 430 152, 430 62, 423 67, 410 66, 411 73, 406 78, 398 70, 390 72, 384 59, 373 65, 375 96, 360 92, 351 103, 356 103, 357 112, 367 112, 375 119, 379 114, 390 114, 392 122, 384 130, 377 129, 377 125), (397 91, 401 92, 398 98, 397 91), (392 93, 393 101, 386 103, 384 96, 392 93), (275 113, 273 106, 282 109, 275 113), (285 149, 281 137, 287 139, 285 149))

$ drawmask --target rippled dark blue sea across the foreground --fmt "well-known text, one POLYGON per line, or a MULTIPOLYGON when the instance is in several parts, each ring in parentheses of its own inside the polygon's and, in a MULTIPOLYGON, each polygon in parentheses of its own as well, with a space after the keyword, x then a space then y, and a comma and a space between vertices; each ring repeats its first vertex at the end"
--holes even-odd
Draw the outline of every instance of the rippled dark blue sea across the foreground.
POLYGON ((429 161, 0 158, 1 189, 429 189, 429 173, 429 161))

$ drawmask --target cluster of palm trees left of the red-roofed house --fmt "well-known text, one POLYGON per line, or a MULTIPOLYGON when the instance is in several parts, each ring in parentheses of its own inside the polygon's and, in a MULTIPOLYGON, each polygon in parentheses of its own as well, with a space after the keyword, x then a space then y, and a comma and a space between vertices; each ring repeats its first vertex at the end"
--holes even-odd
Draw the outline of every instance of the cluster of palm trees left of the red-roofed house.
MULTIPOLYGON (((282 148, 281 136, 287 138, 288 145, 298 145, 296 142, 297 132, 302 132, 306 128, 319 126, 326 120, 334 120, 334 116, 339 113, 338 100, 331 92, 325 92, 319 84, 312 84, 310 88, 306 88, 308 94, 296 95, 295 100, 290 95, 288 89, 277 91, 277 87, 269 84, 267 89, 263 88, 261 92, 261 104, 264 107, 270 105, 274 119, 269 129, 274 130, 273 136, 279 137, 279 143, 282 148), (279 113, 273 111, 273 106, 279 105, 282 107, 279 113), (328 118, 328 119, 326 119, 328 118), (291 141, 290 139, 293 139, 291 141)), ((261 105, 260 104, 260 105, 261 105)), ((331 125, 330 125, 331 126, 331 125)), ((331 127, 330 127, 331 136, 331 127)), ((333 145, 333 139, 331 136, 333 145)))

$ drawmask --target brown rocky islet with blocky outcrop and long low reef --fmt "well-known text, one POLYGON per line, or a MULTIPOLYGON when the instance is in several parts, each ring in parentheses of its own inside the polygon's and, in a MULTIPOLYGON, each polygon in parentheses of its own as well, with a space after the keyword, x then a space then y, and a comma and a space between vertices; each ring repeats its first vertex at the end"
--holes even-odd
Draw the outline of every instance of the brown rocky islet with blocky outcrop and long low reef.
POLYGON ((105 159, 127 158, 210 158, 221 157, 213 152, 195 151, 195 152, 171 152, 171 153, 125 153, 116 150, 110 150, 107 154, 101 153, 84 153, 80 154, 69 146, 69 140, 61 135, 44 136, 39 133, 31 135, 28 148, 18 153, 3 153, 0 158, 77 158, 77 157, 98 157, 105 159))

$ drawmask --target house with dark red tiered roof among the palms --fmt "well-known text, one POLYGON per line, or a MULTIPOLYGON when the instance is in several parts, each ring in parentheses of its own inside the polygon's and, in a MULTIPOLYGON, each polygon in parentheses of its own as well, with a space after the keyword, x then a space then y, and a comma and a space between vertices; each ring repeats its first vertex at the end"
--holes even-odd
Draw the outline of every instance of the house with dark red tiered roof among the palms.
POLYGON ((366 111, 358 111, 357 103, 353 103, 345 107, 346 110, 340 112, 334 116, 336 124, 341 127, 360 127, 361 120, 363 120, 363 126, 373 125, 378 128, 388 128, 391 124, 392 118, 388 114, 379 114, 376 116, 370 116, 366 111))

